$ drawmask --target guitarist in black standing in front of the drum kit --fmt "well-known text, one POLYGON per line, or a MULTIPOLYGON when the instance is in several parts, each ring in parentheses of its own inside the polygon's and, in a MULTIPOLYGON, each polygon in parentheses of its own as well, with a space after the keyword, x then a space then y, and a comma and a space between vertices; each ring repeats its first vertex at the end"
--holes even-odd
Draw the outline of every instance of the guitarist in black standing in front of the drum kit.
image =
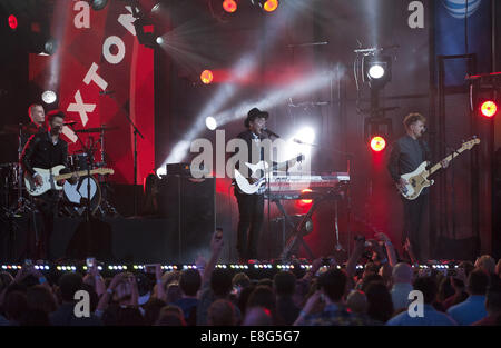
MULTIPOLYGON (((62 111, 50 111, 48 113, 49 130, 40 131, 32 136, 21 155, 20 165, 26 175, 33 178, 37 186, 42 185, 42 177, 33 168, 50 169, 58 165, 68 167, 68 143, 60 138, 63 120, 65 113, 62 111)), ((63 171, 69 172, 68 169, 63 171)), ((76 183, 77 177, 73 175, 69 181, 76 183)), ((35 198, 35 203, 43 221, 43 230, 36 238, 37 258, 48 259, 49 257, 49 240, 53 229, 53 218, 58 201, 59 192, 56 190, 49 190, 35 198)))

